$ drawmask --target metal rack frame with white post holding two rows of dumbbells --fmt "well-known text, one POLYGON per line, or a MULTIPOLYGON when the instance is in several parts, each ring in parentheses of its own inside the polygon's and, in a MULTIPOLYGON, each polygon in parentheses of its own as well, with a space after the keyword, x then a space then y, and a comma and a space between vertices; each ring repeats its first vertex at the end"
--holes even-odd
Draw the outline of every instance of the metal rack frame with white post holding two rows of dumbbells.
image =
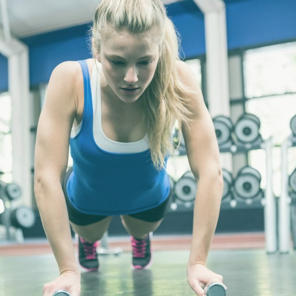
MULTIPOLYGON (((246 201, 236 200, 234 201, 223 201, 221 202, 221 210, 230 210, 230 209, 254 209, 254 208, 264 208, 264 232, 265 232, 265 242, 266 242, 266 252, 267 253, 274 253, 277 251, 277 217, 276 217, 276 197, 273 194, 272 189, 272 148, 273 148, 273 141, 272 137, 267 140, 263 140, 260 144, 241 144, 238 145, 231 145, 228 148, 220 148, 219 150, 221 153, 223 152, 248 152, 250 150, 257 150, 257 149, 264 149, 266 151, 266 189, 263 190, 263 199, 261 200, 254 200, 251 203, 246 201)), ((175 155, 178 155, 175 154, 175 155)), ((182 151, 180 155, 186 155, 186 152, 182 151)), ((170 212, 178 210, 180 211, 190 211, 192 212, 193 202, 187 202, 183 204, 177 204, 173 202, 170 207, 170 212)))

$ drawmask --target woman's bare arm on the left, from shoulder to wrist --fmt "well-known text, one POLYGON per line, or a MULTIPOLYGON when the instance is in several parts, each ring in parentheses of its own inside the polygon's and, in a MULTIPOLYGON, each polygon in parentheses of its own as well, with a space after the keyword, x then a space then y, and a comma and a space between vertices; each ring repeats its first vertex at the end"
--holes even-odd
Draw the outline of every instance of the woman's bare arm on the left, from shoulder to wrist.
POLYGON ((37 127, 34 192, 42 225, 60 274, 80 276, 62 191, 70 132, 76 115, 77 62, 63 62, 52 72, 37 127))

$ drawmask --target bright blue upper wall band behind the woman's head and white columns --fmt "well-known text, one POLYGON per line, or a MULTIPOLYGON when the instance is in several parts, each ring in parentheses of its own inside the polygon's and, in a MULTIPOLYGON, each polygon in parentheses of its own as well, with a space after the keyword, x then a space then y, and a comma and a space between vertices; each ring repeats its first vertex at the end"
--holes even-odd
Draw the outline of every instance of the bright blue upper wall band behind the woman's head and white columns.
MULTIPOLYGON (((229 50, 296 40, 295 0, 225 0, 229 50)), ((193 0, 167 7, 181 34, 182 58, 205 54, 204 17, 193 0)), ((91 57, 90 24, 22 39, 30 48, 31 86, 49 80, 55 66, 91 57)), ((0 91, 7 90, 7 59, 0 55, 0 91)))

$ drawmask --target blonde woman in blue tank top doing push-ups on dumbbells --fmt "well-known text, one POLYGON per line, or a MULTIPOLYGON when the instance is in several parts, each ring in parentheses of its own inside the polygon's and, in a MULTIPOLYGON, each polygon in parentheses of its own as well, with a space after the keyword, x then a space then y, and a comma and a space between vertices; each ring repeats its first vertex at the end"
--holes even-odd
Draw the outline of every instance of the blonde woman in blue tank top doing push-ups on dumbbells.
POLYGON ((176 121, 199 180, 187 274, 202 296, 203 285, 223 280, 206 268, 223 178, 213 122, 179 59, 173 23, 160 0, 103 0, 90 33, 94 59, 53 70, 38 122, 35 195, 60 271, 44 296, 58 289, 80 295, 69 221, 86 270, 99 268, 96 246, 114 215, 131 235, 133 268, 151 264, 149 233, 170 198, 165 167, 176 121))

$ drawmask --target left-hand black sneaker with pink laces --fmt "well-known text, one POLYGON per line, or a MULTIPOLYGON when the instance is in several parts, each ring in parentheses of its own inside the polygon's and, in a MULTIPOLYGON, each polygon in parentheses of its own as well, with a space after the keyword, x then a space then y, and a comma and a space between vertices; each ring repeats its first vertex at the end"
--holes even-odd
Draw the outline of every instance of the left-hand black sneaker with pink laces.
POLYGON ((87 271, 99 269, 98 254, 96 248, 99 241, 91 243, 78 236, 78 258, 81 267, 87 271))

